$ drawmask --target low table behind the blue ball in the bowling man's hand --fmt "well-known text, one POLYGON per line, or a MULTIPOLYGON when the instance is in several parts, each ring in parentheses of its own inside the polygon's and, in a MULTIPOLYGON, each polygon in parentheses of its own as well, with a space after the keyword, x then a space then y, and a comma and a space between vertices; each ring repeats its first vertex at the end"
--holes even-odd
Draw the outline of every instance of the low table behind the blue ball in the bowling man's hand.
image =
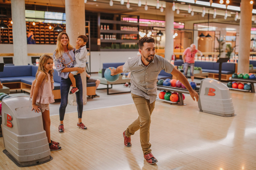
MULTIPOLYGON (((109 94, 120 94, 120 93, 129 93, 131 91, 125 91, 125 92, 116 92, 116 93, 109 93, 109 89, 112 89, 113 84, 125 84, 125 83, 130 83, 131 79, 127 78, 127 77, 123 77, 123 76, 119 76, 118 80, 114 81, 114 82, 110 82, 107 81, 105 78, 102 78, 100 76, 92 76, 91 78, 93 79, 99 79, 100 80, 100 84, 105 84, 107 85, 107 88, 100 88, 100 89, 107 89, 107 95, 109 94), (109 87, 108 85, 111 85, 111 87, 109 87)), ((129 88, 130 89, 130 88, 129 88)))

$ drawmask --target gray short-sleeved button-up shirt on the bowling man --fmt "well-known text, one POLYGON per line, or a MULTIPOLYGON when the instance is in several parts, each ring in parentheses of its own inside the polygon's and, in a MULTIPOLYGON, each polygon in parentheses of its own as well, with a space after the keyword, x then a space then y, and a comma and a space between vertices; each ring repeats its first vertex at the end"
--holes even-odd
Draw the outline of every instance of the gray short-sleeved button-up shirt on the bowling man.
POLYGON ((150 103, 156 100, 157 76, 161 70, 171 73, 174 66, 160 55, 155 55, 148 66, 141 61, 141 56, 128 59, 123 72, 131 72, 131 93, 149 99, 150 103))

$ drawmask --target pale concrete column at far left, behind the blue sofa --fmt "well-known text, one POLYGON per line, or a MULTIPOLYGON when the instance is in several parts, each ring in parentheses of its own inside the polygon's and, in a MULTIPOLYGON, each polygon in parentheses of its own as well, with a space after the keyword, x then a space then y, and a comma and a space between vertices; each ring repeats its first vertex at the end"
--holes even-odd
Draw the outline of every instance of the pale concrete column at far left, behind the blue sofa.
POLYGON ((11 10, 13 21, 13 63, 14 65, 28 65, 25 1, 13 0, 11 2, 11 10))

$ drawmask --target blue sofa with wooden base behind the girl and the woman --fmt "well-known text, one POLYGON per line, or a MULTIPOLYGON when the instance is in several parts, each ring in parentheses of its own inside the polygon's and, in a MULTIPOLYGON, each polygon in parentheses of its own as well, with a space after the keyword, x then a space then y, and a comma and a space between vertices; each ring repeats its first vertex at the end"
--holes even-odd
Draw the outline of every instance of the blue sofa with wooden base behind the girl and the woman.
MULTIPOLYGON (((30 88, 33 80, 36 78, 38 66, 23 65, 23 66, 4 66, 4 71, 0 72, 0 82, 2 85, 9 87, 12 90, 23 90, 30 93, 30 88)), ((61 77, 54 69, 54 99, 60 99, 60 81, 61 77)), ((87 83, 87 87, 96 86, 95 83, 87 83)))

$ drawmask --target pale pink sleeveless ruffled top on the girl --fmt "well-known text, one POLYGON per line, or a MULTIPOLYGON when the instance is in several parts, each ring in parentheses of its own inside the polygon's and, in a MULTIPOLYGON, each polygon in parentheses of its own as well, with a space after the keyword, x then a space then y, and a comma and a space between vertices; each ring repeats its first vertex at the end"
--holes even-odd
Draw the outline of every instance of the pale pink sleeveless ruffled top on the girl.
POLYGON ((54 96, 52 90, 54 89, 53 83, 50 80, 50 74, 47 73, 48 81, 43 80, 41 86, 38 89, 36 102, 41 104, 54 103, 54 96))

